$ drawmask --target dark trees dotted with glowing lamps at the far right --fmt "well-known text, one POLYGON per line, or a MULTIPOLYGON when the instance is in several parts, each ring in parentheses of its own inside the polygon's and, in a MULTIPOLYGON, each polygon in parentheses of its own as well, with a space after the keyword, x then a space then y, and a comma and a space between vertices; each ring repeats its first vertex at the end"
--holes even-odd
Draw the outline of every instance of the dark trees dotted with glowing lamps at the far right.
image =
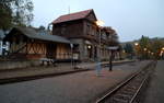
POLYGON ((138 45, 134 45, 134 43, 126 44, 124 47, 125 53, 131 56, 136 53, 139 59, 164 58, 164 39, 142 36, 136 43, 138 43, 138 45))

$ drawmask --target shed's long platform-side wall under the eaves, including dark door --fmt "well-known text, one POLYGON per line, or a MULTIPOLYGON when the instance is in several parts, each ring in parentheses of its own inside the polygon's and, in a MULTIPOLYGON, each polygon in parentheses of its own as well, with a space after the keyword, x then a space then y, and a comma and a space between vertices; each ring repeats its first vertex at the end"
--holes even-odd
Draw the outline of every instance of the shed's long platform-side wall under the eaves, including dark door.
POLYGON ((48 43, 47 44, 46 43, 45 44, 44 43, 28 44, 27 54, 30 54, 31 56, 33 55, 38 58, 49 58, 49 57, 54 59, 70 59, 71 58, 69 44, 54 43, 54 47, 51 47, 49 50, 47 50, 48 49, 47 45, 48 43))

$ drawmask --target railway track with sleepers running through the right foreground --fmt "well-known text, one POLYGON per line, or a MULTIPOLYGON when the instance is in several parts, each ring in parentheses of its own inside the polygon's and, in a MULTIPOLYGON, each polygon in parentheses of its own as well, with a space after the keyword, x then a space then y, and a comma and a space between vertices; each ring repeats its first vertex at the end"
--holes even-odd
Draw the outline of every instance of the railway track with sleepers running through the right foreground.
POLYGON ((147 85, 155 65, 156 61, 152 61, 145 68, 132 75, 126 81, 98 99, 96 103, 140 103, 139 98, 141 90, 147 85))

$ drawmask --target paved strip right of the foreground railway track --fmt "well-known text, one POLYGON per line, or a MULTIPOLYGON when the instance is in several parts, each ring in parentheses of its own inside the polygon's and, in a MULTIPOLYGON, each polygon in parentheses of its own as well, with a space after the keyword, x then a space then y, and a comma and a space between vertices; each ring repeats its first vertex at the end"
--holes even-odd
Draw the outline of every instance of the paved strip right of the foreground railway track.
POLYGON ((144 103, 164 102, 164 60, 157 61, 155 72, 147 90, 144 103))

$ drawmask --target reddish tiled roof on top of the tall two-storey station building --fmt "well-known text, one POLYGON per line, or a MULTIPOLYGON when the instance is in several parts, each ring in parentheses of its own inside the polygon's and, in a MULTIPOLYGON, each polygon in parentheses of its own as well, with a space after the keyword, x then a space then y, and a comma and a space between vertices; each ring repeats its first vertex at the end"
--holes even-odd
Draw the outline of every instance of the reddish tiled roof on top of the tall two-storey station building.
POLYGON ((80 19, 85 19, 91 12, 93 12, 93 9, 81 11, 81 12, 75 12, 75 13, 70 13, 70 14, 66 14, 66 15, 61 15, 58 19, 56 19, 52 22, 52 24, 68 22, 68 21, 74 21, 74 20, 80 20, 80 19))

